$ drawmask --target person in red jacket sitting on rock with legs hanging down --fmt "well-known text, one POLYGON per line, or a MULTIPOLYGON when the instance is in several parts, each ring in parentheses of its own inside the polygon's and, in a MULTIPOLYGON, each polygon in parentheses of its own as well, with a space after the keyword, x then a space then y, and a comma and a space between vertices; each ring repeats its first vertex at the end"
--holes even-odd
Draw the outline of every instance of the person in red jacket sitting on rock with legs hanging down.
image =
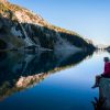
POLYGON ((100 78, 102 78, 102 77, 110 78, 110 62, 109 62, 109 57, 105 57, 103 62, 105 62, 105 72, 103 72, 103 74, 96 76, 96 84, 91 88, 96 88, 96 87, 99 86, 100 78))

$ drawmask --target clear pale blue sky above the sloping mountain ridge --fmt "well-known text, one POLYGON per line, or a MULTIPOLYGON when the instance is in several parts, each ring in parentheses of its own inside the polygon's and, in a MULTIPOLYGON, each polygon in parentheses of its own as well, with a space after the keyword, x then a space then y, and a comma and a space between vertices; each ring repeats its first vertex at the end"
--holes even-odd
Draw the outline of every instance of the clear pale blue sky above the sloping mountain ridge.
POLYGON ((52 24, 98 44, 110 44, 110 0, 9 0, 41 14, 52 24))

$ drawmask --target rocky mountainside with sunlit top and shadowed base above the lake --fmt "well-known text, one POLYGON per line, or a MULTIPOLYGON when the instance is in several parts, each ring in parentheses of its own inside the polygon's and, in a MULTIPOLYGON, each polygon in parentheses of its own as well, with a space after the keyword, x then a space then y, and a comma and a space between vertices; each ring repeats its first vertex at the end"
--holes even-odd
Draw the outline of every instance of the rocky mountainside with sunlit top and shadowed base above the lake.
POLYGON ((45 50, 95 48, 91 41, 88 42, 77 33, 52 25, 41 15, 1 0, 0 50, 33 45, 45 50))

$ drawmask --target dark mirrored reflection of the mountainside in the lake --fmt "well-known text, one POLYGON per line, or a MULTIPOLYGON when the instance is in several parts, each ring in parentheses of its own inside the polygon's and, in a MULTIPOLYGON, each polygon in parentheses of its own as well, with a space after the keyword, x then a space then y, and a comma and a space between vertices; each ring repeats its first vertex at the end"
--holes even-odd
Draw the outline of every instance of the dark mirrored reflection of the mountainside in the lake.
POLYGON ((65 56, 54 52, 0 53, 0 100, 38 84, 55 72, 76 66, 90 55, 92 53, 74 53, 65 56))

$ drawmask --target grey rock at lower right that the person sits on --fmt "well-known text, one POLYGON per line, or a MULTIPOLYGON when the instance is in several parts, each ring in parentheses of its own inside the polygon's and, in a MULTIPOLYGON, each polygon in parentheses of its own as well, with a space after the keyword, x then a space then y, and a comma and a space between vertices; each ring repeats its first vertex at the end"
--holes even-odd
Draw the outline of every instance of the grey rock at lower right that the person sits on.
POLYGON ((110 110, 110 78, 101 78, 99 82, 99 98, 91 101, 95 110, 110 110))

